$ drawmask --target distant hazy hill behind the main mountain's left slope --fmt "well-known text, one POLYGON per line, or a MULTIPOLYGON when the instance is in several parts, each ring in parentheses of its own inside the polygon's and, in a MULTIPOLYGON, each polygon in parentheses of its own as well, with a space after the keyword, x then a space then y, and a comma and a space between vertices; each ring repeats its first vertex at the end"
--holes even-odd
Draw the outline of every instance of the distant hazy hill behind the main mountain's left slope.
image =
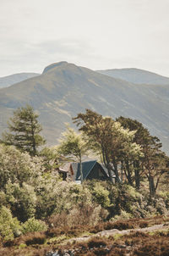
POLYGON ((34 77, 36 73, 19 73, 19 74, 14 74, 14 75, 8 75, 8 76, 3 76, 0 77, 0 88, 12 86, 20 81, 25 81, 26 79, 29 79, 31 77, 34 77))

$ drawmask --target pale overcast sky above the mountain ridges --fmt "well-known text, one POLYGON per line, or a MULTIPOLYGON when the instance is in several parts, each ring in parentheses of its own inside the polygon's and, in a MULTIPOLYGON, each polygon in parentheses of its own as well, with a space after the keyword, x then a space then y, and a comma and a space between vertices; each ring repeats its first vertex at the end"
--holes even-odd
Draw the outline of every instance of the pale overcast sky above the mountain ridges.
POLYGON ((0 77, 68 61, 169 76, 169 0, 0 0, 0 77))

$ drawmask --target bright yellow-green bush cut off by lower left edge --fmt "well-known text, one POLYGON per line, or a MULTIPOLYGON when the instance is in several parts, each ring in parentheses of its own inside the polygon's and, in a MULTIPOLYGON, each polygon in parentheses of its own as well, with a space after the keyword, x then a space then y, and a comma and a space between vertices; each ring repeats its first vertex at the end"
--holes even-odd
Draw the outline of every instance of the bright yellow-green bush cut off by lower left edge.
POLYGON ((0 235, 4 240, 13 240, 21 234, 21 226, 17 218, 13 218, 10 209, 0 209, 0 235))

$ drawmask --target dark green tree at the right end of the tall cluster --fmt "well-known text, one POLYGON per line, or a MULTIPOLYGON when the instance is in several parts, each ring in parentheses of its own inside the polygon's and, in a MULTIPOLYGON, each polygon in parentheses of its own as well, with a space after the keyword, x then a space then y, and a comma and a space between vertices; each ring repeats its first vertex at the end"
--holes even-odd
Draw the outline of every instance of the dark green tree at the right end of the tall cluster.
MULTIPOLYGON (((124 128, 136 131, 134 142, 141 147, 144 157, 134 160, 135 185, 140 186, 141 179, 147 177, 150 186, 150 196, 155 195, 161 176, 167 172, 167 158, 161 151, 162 144, 156 136, 150 136, 150 132, 137 120, 125 117, 117 118, 124 128)), ((128 164, 128 163, 127 163, 128 164)))

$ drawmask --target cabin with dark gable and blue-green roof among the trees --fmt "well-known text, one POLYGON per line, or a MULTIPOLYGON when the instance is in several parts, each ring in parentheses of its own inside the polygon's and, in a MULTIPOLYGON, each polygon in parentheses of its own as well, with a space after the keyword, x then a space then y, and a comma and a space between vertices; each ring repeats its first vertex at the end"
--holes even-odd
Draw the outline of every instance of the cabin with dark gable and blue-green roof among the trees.
MULTIPOLYGON (((59 172, 62 173, 63 180, 69 178, 76 183, 81 183, 79 163, 71 163, 69 166, 67 166, 67 168, 60 169, 59 172)), ((82 173, 84 181, 93 179, 100 181, 110 181, 108 171, 96 160, 82 162, 82 173)))

